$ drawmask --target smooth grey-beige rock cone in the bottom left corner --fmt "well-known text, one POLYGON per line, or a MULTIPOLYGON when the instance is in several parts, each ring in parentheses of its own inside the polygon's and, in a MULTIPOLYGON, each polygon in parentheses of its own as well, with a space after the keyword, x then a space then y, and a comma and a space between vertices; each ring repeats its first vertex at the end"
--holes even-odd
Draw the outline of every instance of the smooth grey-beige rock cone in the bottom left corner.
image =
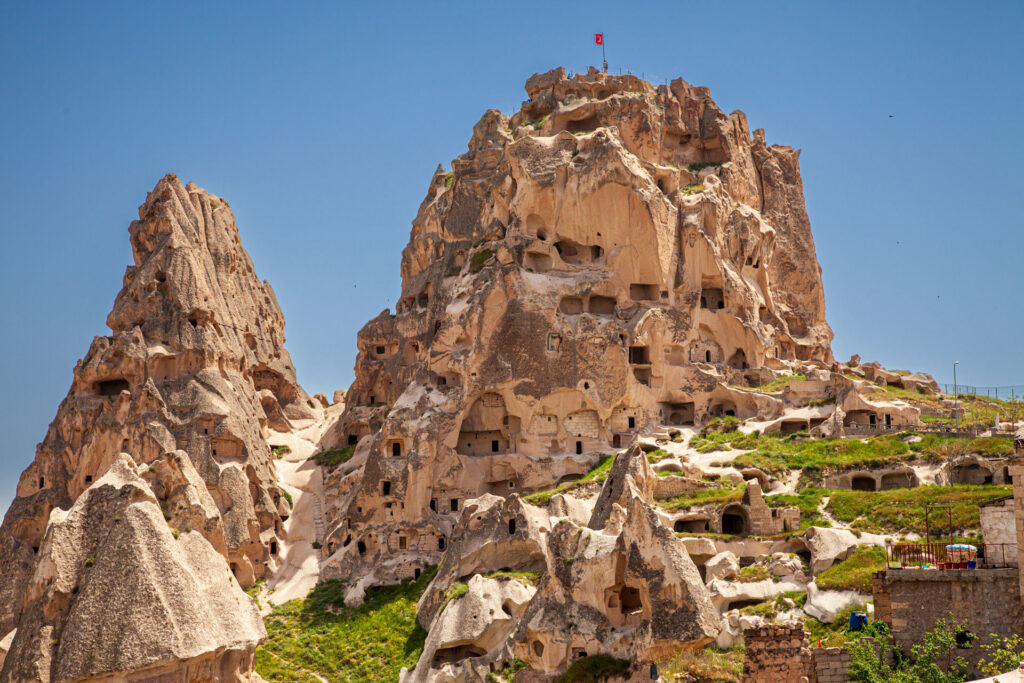
POLYGON ((259 680, 265 637, 223 556, 198 531, 172 533, 122 454, 51 512, 0 678, 259 680))

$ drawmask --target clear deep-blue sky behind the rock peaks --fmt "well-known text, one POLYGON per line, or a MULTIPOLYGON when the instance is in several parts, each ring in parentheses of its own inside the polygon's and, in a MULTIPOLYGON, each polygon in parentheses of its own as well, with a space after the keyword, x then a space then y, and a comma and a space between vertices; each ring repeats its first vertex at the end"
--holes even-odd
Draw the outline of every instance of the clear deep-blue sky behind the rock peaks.
POLYGON ((0 506, 165 173, 226 198, 310 393, 394 306, 437 164, 535 72, 709 86, 800 147, 834 350, 1024 383, 1024 3, 0 0, 0 506))

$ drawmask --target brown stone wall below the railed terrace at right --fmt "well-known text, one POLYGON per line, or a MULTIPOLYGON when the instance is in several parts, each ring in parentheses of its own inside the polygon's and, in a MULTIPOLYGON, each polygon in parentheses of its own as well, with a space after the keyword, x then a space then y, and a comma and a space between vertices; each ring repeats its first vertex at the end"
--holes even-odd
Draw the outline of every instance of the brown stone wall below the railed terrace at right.
POLYGON ((935 623, 952 614, 977 636, 970 648, 954 651, 974 665, 989 634, 1009 636, 1024 628, 1017 570, 887 569, 872 579, 874 618, 892 629, 905 651, 920 643, 935 623))

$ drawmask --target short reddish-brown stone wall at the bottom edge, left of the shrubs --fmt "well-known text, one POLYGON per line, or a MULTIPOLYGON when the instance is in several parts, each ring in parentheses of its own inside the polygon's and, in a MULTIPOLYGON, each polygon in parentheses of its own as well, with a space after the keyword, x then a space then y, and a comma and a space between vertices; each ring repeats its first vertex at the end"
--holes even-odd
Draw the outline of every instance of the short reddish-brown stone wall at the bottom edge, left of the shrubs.
POLYGON ((803 625, 771 624, 743 631, 743 683, 814 680, 814 660, 803 625))

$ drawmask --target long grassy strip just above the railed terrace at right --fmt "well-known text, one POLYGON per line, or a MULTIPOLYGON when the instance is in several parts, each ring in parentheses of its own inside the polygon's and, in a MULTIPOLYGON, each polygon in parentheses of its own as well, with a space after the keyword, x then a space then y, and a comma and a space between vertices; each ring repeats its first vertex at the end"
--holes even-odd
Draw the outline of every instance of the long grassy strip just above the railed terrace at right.
MULTIPOLYGON (((837 490, 828 500, 827 510, 851 528, 877 533, 925 536, 925 511, 929 505, 951 503, 954 536, 980 531, 978 506, 1013 493, 1012 486, 957 484, 954 486, 919 486, 891 490, 837 490)), ((932 537, 948 533, 950 517, 946 508, 931 508, 932 537)))

